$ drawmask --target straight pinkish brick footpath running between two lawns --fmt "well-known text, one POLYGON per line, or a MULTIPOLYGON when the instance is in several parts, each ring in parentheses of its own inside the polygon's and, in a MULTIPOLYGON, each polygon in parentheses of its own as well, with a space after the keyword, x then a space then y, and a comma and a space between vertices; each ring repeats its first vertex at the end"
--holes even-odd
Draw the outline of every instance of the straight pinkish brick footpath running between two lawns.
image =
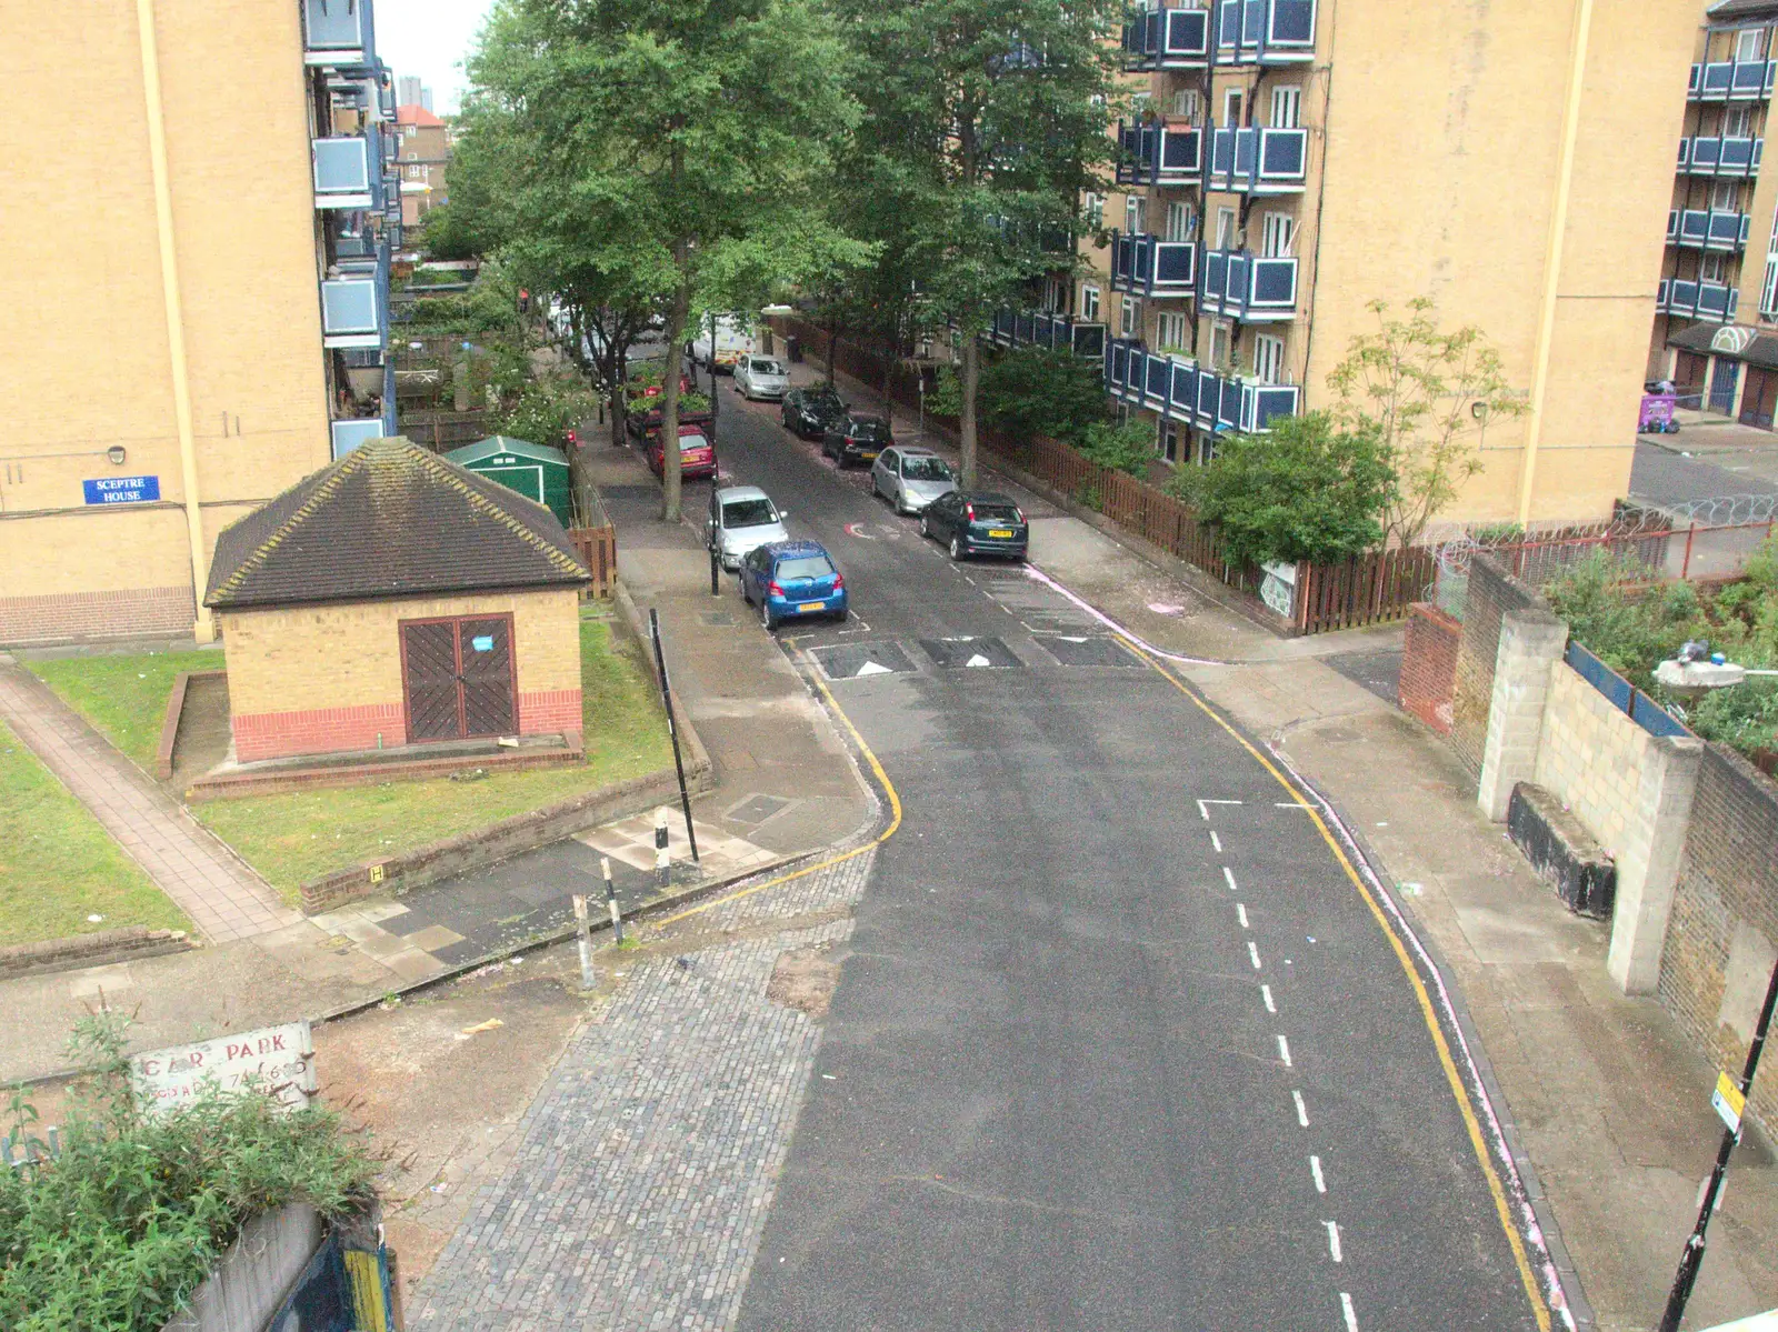
POLYGON ((0 665, 0 717, 212 943, 302 918, 28 670, 0 665))

